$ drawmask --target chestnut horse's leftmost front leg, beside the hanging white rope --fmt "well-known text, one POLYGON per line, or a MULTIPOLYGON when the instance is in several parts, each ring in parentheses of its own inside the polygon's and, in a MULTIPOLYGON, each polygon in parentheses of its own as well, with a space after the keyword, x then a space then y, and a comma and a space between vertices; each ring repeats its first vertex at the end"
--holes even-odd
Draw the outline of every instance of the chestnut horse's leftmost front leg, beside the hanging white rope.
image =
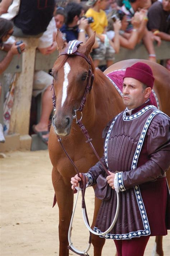
POLYGON ((52 183, 59 209, 59 256, 69 256, 69 250, 67 249, 67 246, 69 245, 68 231, 72 215, 74 195, 70 182, 66 184, 60 173, 55 168, 52 170, 52 183))

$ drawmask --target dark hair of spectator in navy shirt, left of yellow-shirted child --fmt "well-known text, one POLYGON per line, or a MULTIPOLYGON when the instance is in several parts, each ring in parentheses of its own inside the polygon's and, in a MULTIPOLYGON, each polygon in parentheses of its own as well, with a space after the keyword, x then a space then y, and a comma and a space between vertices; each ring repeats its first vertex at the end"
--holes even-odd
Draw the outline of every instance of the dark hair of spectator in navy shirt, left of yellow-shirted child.
POLYGON ((80 4, 71 2, 66 5, 65 10, 67 13, 66 24, 68 25, 73 21, 73 19, 76 15, 77 16, 80 15, 82 6, 80 4))

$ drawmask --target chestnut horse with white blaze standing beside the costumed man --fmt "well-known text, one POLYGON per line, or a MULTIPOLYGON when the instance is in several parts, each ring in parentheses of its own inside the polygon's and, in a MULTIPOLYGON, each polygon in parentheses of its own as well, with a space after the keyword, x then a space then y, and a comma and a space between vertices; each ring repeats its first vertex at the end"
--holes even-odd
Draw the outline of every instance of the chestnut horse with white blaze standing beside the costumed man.
MULTIPOLYGON (((66 45, 63 42, 60 32, 57 32, 56 41, 59 53, 63 52, 66 45)), ((87 58, 95 41, 95 35, 91 36, 86 44, 78 47, 77 52, 84 54, 87 58)), ((91 58, 90 58, 91 60, 91 58)), ((105 73, 117 69, 126 69, 139 60, 124 60, 109 67, 105 73)), ((160 102, 160 108, 166 114, 170 114, 169 102, 169 73, 159 64, 147 60, 140 60, 150 65, 155 76, 154 90, 160 102)), ((55 190, 59 208, 59 239, 60 256, 68 256, 69 250, 67 234, 73 209, 74 192, 71 189, 70 178, 75 175, 75 169, 63 152, 60 143, 57 141, 58 134, 62 138, 63 146, 77 168, 86 173, 89 168, 98 161, 88 143, 85 143, 80 128, 75 123, 74 110, 79 108, 84 95, 88 80, 89 68, 92 70, 95 80, 87 97, 84 110, 82 111, 82 122, 93 138, 93 146, 99 156, 103 155, 102 131, 113 118, 125 107, 122 98, 109 79, 100 71, 94 68, 85 58, 77 55, 60 55, 56 60, 52 72, 54 76, 54 90, 56 95, 56 111, 53 116, 52 126, 49 135, 49 157, 53 165, 52 182, 55 190)), ((95 209, 92 226, 101 201, 95 198, 95 209)), ((100 256, 105 239, 92 236, 94 256, 100 256)), ((160 248, 160 251, 162 249, 160 248)), ((159 254, 161 255, 161 254, 159 254)))

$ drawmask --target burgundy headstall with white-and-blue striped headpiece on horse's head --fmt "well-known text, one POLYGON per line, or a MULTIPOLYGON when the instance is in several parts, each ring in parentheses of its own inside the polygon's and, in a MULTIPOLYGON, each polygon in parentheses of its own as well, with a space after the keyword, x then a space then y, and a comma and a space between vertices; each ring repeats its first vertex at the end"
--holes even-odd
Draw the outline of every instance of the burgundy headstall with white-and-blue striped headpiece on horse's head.
MULTIPOLYGON (((85 54, 83 54, 81 52, 77 52, 77 48, 80 46, 80 44, 82 44, 82 42, 77 41, 77 40, 70 41, 69 45, 65 48, 65 50, 63 52, 61 52, 59 54, 58 58, 61 55, 70 55, 70 56, 78 55, 78 56, 84 58, 88 62, 88 64, 91 66, 90 59, 87 58, 85 54)), ((91 69, 89 68, 88 81, 87 81, 87 84, 86 84, 85 92, 84 92, 84 95, 82 97, 80 106, 77 110, 75 110, 75 113, 76 113, 76 111, 81 111, 82 112, 82 110, 84 108, 84 105, 85 105, 85 102, 86 102, 86 95, 88 93, 90 93, 92 85, 93 85, 93 81, 94 81, 94 74, 92 73, 91 69)), ((56 96, 55 96, 55 91, 54 91, 54 81, 52 83, 52 88, 53 88, 53 97, 52 97, 53 108, 54 108, 54 110, 56 110, 56 96)))

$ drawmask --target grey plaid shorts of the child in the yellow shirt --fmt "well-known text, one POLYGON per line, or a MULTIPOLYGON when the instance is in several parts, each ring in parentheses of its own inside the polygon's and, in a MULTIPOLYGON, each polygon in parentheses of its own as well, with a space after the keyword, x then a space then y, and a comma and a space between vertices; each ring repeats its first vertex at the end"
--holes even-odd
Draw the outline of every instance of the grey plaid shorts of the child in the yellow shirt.
POLYGON ((113 47, 111 45, 109 45, 108 47, 106 47, 104 45, 103 42, 100 41, 99 38, 97 38, 99 47, 93 49, 93 51, 91 52, 91 57, 93 60, 113 60, 114 59, 114 53, 115 50, 113 49, 113 47))

